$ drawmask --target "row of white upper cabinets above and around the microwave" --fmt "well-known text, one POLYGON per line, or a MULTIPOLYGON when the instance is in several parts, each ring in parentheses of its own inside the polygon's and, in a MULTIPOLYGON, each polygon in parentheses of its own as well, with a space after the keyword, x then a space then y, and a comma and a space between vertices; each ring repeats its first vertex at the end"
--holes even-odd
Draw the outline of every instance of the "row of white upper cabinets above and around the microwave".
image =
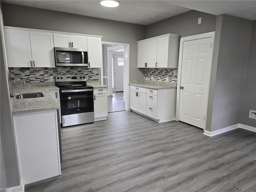
POLYGON ((4 26, 8 67, 55 67, 54 47, 88 52, 89 68, 102 68, 102 36, 4 26))

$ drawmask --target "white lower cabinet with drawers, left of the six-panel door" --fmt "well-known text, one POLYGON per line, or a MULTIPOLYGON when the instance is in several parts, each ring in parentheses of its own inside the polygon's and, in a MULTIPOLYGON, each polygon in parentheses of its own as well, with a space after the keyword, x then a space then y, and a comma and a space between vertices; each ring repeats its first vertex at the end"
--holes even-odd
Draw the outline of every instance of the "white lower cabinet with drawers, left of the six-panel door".
POLYGON ((130 86, 130 109, 156 122, 175 119, 176 88, 151 89, 130 86))

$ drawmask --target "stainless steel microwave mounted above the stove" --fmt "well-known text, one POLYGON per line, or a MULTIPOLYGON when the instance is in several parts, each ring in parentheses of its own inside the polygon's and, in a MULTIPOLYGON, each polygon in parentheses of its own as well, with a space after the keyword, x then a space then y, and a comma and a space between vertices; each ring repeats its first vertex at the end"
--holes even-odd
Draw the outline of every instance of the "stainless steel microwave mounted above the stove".
POLYGON ((83 49, 54 47, 55 66, 89 66, 88 52, 83 49))

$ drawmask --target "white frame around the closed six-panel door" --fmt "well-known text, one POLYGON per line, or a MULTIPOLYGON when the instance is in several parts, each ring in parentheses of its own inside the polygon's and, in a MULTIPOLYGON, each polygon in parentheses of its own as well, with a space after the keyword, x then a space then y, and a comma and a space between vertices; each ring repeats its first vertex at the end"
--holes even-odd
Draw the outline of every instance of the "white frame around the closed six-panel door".
MULTIPOLYGON (((179 121, 179 112, 180 112, 180 81, 181 81, 181 74, 182 74, 181 69, 182 69, 183 44, 186 41, 198 40, 198 39, 204 39, 204 38, 212 38, 212 49, 211 49, 211 58, 210 58, 211 62, 210 62, 210 68, 209 68, 209 70, 210 70, 209 74, 211 74, 214 36, 215 36, 215 31, 180 38, 180 50, 179 50, 179 60, 178 60, 178 79, 177 79, 177 92, 176 92, 176 112, 175 112, 176 113, 176 116, 175 116, 176 121, 179 121)), ((208 91, 206 94, 205 119, 207 119, 207 108, 208 108, 208 98, 209 98, 209 88, 210 88, 210 75, 208 78, 209 78, 208 79, 209 84, 207 85, 208 91)), ((205 128, 206 128, 206 120, 204 121, 204 130, 205 130, 205 128)))

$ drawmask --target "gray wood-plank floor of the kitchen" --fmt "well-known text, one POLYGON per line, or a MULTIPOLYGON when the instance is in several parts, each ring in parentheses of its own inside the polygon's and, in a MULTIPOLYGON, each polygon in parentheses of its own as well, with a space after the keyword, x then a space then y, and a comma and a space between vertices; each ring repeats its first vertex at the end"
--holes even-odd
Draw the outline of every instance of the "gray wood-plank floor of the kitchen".
POLYGON ((208 137, 134 112, 61 129, 62 175, 26 192, 255 192, 256 133, 208 137))

